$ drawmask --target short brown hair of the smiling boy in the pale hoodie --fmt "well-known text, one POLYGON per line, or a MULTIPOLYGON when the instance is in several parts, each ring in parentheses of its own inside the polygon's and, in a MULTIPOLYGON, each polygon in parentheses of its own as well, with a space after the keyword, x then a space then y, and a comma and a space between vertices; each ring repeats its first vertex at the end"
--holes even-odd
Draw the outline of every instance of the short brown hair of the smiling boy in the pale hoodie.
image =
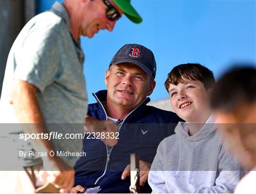
POLYGON ((215 79, 210 69, 199 63, 187 63, 174 67, 168 74, 165 81, 167 92, 170 84, 183 84, 185 83, 184 79, 199 80, 203 83, 206 90, 212 88, 215 84, 215 79))

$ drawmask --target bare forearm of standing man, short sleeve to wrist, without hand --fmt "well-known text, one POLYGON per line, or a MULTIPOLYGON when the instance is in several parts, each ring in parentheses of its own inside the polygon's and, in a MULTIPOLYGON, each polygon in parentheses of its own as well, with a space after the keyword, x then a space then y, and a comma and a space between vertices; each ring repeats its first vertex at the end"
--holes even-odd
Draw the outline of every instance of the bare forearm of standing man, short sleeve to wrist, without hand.
MULTIPOLYGON (((10 103, 13 105, 17 118, 24 133, 47 133, 44 118, 40 112, 36 96, 37 88, 27 82, 14 80, 10 103)), ((54 145, 47 139, 31 139, 37 152, 50 152, 54 145)))

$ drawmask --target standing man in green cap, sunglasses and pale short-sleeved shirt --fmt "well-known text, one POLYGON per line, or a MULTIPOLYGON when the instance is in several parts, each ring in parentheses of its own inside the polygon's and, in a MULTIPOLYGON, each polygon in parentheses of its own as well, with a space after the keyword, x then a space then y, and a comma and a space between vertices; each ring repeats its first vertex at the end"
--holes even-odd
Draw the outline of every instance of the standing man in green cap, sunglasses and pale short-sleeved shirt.
MULTIPOLYGON (((64 0, 63 4, 55 2, 49 11, 33 17, 24 26, 9 52, 0 99, 1 123, 36 123, 40 127, 12 131, 9 135, 50 133, 53 131, 50 123, 84 123, 87 93, 80 36, 91 38, 103 29, 111 32, 123 13, 134 23, 142 21, 130 0, 64 0)), ((65 133, 83 133, 83 129, 65 133)), ((35 166, 38 170, 44 168, 48 173, 47 181, 61 191, 73 186, 73 165, 78 157, 48 156, 50 151, 81 152, 81 139, 68 142, 33 139, 32 146, 22 143, 26 143, 22 147, 27 149, 23 152, 47 153, 47 157, 26 158, 18 164, 31 172, 27 175, 33 189, 41 186, 36 185, 35 166)), ((12 188, 10 193, 33 190, 12 188)))

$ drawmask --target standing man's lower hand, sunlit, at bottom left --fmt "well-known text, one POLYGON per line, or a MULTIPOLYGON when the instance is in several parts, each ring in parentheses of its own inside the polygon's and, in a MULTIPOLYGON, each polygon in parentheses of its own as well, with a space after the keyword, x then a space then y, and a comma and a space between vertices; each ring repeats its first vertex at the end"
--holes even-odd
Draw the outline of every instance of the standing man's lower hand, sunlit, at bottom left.
POLYGON ((51 157, 43 160, 43 166, 48 174, 47 181, 60 192, 66 193, 74 185, 74 169, 68 166, 61 158, 51 157))

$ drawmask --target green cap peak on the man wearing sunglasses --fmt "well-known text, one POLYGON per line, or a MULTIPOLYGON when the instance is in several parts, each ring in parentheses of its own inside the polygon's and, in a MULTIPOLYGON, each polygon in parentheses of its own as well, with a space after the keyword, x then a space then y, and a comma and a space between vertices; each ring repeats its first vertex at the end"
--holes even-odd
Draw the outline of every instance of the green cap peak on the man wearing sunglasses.
POLYGON ((131 5, 131 0, 113 0, 117 6, 123 10, 126 17, 132 22, 139 24, 142 22, 142 18, 138 15, 135 8, 131 5))

